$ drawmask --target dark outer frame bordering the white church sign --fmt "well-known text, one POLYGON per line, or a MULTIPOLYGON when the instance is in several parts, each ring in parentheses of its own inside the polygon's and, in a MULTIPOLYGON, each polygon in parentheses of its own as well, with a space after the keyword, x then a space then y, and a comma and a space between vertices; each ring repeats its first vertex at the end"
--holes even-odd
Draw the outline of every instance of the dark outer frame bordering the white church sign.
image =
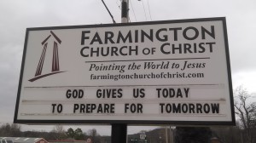
MULTIPOLYGON (((113 123, 128 123, 128 124, 175 124, 175 125, 236 125, 235 119, 235 110, 234 110, 234 100, 233 100, 233 90, 232 90, 232 80, 231 80, 231 72, 230 72, 230 53, 229 53, 229 45, 228 45, 228 37, 227 37, 227 27, 226 20, 224 17, 215 17, 215 18, 203 18, 203 19, 187 19, 187 20, 160 20, 160 21, 150 21, 150 22, 136 22, 136 23, 119 23, 119 24, 103 24, 103 25, 86 25, 86 26, 49 26, 49 27, 34 27, 26 29, 26 38, 23 49, 22 63, 20 68, 20 82, 17 93, 16 105, 15 105, 15 117, 14 123, 26 123, 26 124, 53 124, 53 123, 61 123, 61 124, 113 124, 113 123), (227 65, 227 75, 228 75, 228 83, 229 83, 229 91, 230 91, 230 110, 231 110, 231 121, 156 121, 156 120, 23 120, 18 119, 18 110, 20 103, 20 91, 21 84, 23 80, 24 74, 24 66, 26 60, 26 47, 28 43, 28 35, 29 31, 38 31, 38 30, 60 30, 60 29, 78 29, 78 28, 94 28, 94 27, 112 27, 112 26, 141 26, 141 25, 155 25, 155 24, 172 24, 172 23, 188 23, 188 22, 203 22, 203 21, 216 21, 220 20, 223 23, 223 31, 224 31, 224 46, 225 46, 225 57, 226 57, 226 65, 227 65)), ((227 101, 228 102, 228 101, 227 101)))

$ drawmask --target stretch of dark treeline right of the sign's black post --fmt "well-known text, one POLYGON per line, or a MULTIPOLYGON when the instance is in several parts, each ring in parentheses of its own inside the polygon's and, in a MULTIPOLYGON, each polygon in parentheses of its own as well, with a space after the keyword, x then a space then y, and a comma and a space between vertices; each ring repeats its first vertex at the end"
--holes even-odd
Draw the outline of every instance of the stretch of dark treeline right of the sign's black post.
POLYGON ((256 143, 256 130, 253 131, 251 142, 247 139, 244 129, 238 126, 234 127, 176 127, 154 129, 147 132, 128 135, 128 143, 187 143, 187 142, 203 142, 203 143, 256 143), (146 134, 146 139, 142 140, 140 134, 146 134), (171 135, 172 134, 172 135, 171 135), (166 137, 167 135, 167 137, 166 137))

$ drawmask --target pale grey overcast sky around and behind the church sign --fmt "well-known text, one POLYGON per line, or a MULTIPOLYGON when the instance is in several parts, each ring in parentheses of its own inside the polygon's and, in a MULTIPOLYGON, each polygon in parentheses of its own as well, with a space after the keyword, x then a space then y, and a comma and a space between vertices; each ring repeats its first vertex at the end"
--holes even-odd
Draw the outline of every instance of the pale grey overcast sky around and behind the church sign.
MULTIPOLYGON (((249 93, 256 93, 255 0, 130 1, 131 22, 226 17, 233 89, 243 84, 249 93)), ((105 0, 105 3, 119 23, 119 0, 105 0)), ((15 114, 26 27, 107 23, 112 23, 112 19, 101 0, 0 0, 0 123, 11 123, 15 114)), ((96 128, 100 134, 110 133, 109 126, 83 128, 84 131, 96 128)), ((131 127, 128 130, 134 133, 153 128, 131 127)), ((23 129, 49 130, 52 127, 26 125, 23 129)))

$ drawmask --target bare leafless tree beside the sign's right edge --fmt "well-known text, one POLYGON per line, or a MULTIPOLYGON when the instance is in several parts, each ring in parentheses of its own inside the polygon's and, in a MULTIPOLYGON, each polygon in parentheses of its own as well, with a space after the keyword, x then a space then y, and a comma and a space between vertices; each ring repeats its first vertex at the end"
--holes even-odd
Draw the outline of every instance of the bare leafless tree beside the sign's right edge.
POLYGON ((241 128, 246 133, 248 143, 253 143, 253 129, 255 129, 256 103, 252 102, 252 94, 247 93, 247 89, 242 86, 235 90, 236 115, 240 117, 241 128))

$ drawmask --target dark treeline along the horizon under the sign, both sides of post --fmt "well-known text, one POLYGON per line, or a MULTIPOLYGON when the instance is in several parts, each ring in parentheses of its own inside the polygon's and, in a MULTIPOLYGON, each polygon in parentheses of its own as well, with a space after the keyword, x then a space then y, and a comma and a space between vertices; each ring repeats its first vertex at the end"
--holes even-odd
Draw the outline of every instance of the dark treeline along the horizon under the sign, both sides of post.
MULTIPOLYGON (((219 143, 256 143, 256 129, 251 130, 253 140, 249 141, 247 138, 247 131, 242 129, 241 124, 236 123, 234 127, 212 127, 212 128, 198 128, 198 127, 176 127, 171 129, 169 127, 153 129, 150 131, 142 130, 137 134, 128 135, 128 143, 166 143, 170 140, 175 143, 183 142, 184 140, 206 140, 205 143, 212 140, 218 140, 219 143), (146 139, 141 140, 140 134, 146 134, 146 139), (172 134, 172 135, 171 135, 172 134), (167 139, 166 139, 167 135, 167 139)), ((19 124, 5 123, 0 127, 0 136, 5 137, 34 137, 44 138, 45 140, 86 140, 91 138, 96 143, 110 143, 110 136, 102 136, 97 133, 96 129, 90 129, 86 133, 82 129, 63 129, 62 126, 55 126, 49 132, 45 131, 20 131, 19 124)))

